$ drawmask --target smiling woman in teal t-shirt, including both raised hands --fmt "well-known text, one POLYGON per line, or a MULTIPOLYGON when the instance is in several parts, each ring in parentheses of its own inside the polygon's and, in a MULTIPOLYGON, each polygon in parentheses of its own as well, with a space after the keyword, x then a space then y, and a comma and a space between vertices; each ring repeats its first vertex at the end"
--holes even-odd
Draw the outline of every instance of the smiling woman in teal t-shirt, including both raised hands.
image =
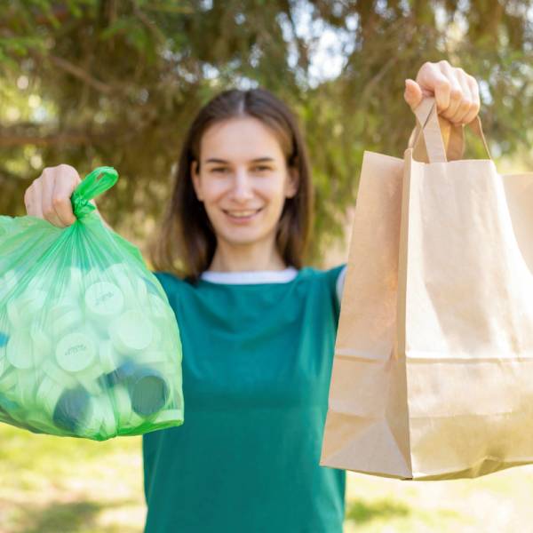
MULTIPOLYGON (((472 76, 426 63, 416 107, 468 123, 472 76)), ((28 214, 66 227, 67 165, 28 188, 28 214)), ((226 91, 188 131, 154 250, 183 343, 185 424, 143 437, 146 531, 338 533, 345 472, 319 465, 345 267, 303 267, 311 227, 306 147, 263 90, 226 91), (176 265, 179 264, 179 271, 176 265)))

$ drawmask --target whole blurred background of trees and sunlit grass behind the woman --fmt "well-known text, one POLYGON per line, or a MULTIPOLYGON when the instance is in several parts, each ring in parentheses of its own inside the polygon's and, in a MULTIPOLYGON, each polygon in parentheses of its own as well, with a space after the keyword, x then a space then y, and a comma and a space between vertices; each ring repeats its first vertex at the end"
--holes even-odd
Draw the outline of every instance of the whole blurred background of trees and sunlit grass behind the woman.
MULTIPOLYGON (((362 152, 402 155, 414 123, 403 81, 426 60, 478 79, 499 168, 533 168, 532 52, 529 2, 0 2, 0 214, 24 214, 45 166, 84 175, 108 164, 121 179, 100 211, 144 248, 198 108, 221 90, 264 86, 305 131, 317 215, 308 262, 335 264, 362 152)), ((141 531, 141 466, 139 438, 0 426, 0 533, 141 531)), ((346 533, 533 531, 531 494, 529 467, 418 483, 349 473, 346 533)))

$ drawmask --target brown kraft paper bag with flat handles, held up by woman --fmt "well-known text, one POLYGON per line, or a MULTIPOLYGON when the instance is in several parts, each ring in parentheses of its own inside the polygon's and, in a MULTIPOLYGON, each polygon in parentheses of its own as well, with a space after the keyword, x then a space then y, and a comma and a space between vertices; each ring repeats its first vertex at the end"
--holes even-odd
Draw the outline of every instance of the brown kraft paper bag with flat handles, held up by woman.
POLYGON ((320 464, 471 478, 533 462, 533 174, 416 115, 429 163, 363 158, 320 464))

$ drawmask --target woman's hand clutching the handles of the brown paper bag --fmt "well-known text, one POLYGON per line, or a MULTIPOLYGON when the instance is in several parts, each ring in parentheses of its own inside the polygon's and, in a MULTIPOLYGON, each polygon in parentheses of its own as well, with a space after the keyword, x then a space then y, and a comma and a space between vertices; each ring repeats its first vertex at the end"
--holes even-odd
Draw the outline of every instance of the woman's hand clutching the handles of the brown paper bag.
POLYGON ((434 96, 439 115, 454 124, 473 121, 480 110, 480 91, 473 76, 448 61, 424 63, 417 80, 405 80, 403 97, 414 109, 426 96, 434 96))

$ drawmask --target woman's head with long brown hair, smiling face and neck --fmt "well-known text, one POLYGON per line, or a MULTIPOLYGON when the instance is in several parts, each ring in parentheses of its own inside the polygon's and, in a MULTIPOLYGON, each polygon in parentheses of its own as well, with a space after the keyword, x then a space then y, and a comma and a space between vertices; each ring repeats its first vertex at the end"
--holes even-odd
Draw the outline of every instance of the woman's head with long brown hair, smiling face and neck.
POLYGON ((153 264, 189 281, 207 270, 302 267, 312 204, 290 109, 266 90, 223 92, 191 125, 153 264))

